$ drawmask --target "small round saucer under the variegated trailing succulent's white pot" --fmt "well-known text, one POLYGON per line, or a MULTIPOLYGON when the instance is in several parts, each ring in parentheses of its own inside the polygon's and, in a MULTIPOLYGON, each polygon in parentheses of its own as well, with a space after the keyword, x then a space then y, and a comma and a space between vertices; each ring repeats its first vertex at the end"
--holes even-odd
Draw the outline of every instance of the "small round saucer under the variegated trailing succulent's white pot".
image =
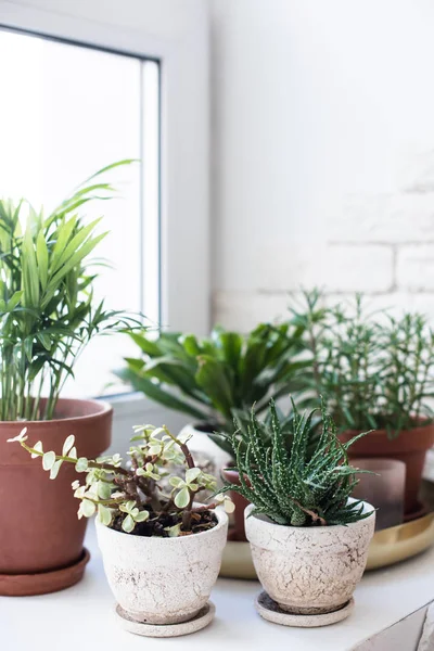
POLYGON ((179 637, 205 628, 214 620, 216 607, 212 601, 208 601, 195 617, 180 624, 145 624, 143 622, 136 622, 119 604, 116 604, 115 613, 120 626, 129 633, 144 637, 179 637))

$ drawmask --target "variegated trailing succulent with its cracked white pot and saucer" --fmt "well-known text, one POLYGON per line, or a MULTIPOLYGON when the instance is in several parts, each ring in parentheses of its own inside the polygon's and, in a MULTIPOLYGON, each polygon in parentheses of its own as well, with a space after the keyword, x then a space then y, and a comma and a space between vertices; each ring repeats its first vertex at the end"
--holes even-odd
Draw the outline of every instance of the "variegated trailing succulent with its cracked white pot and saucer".
POLYGON ((210 622, 214 607, 208 597, 220 567, 228 518, 216 503, 196 503, 201 492, 215 489, 216 482, 195 467, 186 438, 165 426, 137 426, 126 465, 119 455, 78 457, 74 435, 61 454, 46 451, 40 441, 28 444, 26 430, 14 441, 25 454, 41 457, 51 478, 63 464, 86 473, 82 482, 73 483, 80 500, 78 518, 98 514, 98 542, 124 627, 169 637, 210 622), (182 476, 174 472, 180 465, 182 476), (161 489, 163 477, 167 490, 161 489))

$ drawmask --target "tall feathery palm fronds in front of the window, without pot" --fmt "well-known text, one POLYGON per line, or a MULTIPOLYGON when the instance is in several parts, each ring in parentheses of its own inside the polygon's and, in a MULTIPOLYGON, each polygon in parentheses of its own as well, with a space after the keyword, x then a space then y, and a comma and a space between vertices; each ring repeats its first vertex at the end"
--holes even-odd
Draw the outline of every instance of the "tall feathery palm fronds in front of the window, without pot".
POLYGON ((101 169, 47 217, 24 201, 0 201, 0 420, 51 419, 89 340, 139 324, 93 304, 89 255, 106 233, 95 234, 100 220, 86 225, 80 215, 113 194, 100 175, 128 163, 101 169))

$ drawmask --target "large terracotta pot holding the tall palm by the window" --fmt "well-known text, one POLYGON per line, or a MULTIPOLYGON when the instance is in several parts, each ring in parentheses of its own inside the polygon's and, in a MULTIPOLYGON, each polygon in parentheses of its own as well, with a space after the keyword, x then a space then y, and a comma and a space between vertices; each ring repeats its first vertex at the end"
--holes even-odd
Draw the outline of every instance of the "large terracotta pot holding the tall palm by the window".
MULTIPOLYGON (((59 585, 58 570, 82 564, 86 519, 77 519, 78 500, 71 484, 77 478, 74 465, 64 463, 55 482, 42 469, 40 459, 17 443, 7 443, 27 426, 28 444, 41 441, 46 451, 61 454, 65 438, 76 437, 79 456, 94 458, 110 445, 112 408, 97 400, 60 399, 51 421, 0 422, 0 593, 50 592, 71 584, 65 576, 59 585), (56 575, 50 588, 47 575, 56 575), (35 574, 33 589, 28 575, 35 574), (13 575, 11 580, 8 577, 13 575), (24 575, 21 589, 17 575, 24 575), (31 591, 29 591, 31 589, 31 591)), ((84 567, 82 567, 84 569, 84 567)), ((67 573, 66 573, 67 574, 67 573)), ((75 573, 77 574, 77 573, 75 573)), ((82 574, 82 573, 81 573, 82 574)), ((77 580, 81 575, 77 577, 77 580)))

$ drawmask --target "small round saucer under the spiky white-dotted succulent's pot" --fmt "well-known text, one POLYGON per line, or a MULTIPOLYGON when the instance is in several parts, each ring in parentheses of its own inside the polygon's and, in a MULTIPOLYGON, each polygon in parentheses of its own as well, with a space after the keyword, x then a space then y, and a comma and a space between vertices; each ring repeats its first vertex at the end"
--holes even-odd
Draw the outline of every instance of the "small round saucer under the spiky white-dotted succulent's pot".
POLYGON ((352 598, 345 605, 332 613, 324 613, 323 615, 294 615, 282 610, 264 590, 256 597, 255 608, 264 620, 268 620, 268 622, 272 622, 273 624, 314 628, 317 626, 330 626, 330 624, 336 624, 336 622, 345 620, 354 609, 354 599, 352 598))

